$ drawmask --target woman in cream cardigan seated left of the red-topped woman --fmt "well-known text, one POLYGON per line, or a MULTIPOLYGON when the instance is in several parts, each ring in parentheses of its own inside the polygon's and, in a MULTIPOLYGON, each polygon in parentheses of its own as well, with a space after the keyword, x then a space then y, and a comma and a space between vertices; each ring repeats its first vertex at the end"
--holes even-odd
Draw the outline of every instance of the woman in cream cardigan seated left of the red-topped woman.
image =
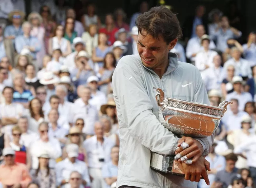
POLYGON ((97 26, 94 24, 89 25, 88 31, 82 35, 82 39, 86 44, 86 52, 90 57, 92 57, 92 50, 98 46, 98 38, 97 26))

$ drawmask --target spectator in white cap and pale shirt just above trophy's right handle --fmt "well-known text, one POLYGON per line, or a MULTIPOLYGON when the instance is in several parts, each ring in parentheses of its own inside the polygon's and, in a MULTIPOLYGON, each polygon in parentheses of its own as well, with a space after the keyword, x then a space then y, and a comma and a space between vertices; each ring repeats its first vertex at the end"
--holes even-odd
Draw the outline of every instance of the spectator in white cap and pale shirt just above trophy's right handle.
POLYGON ((230 101, 231 99, 238 100, 238 104, 239 104, 238 109, 240 111, 244 110, 245 104, 247 102, 253 101, 252 95, 250 93, 242 91, 242 82, 243 82, 242 77, 234 76, 232 79, 234 91, 232 93, 227 94, 226 96, 227 101, 230 101))

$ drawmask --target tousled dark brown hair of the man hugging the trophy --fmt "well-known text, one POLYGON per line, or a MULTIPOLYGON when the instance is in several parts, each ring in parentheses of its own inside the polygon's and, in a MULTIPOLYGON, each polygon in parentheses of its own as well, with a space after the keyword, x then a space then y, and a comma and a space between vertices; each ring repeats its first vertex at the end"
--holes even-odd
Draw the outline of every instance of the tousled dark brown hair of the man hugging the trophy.
POLYGON ((148 12, 140 14, 135 23, 140 34, 144 30, 156 39, 162 36, 167 44, 182 37, 176 14, 165 6, 153 7, 148 12))

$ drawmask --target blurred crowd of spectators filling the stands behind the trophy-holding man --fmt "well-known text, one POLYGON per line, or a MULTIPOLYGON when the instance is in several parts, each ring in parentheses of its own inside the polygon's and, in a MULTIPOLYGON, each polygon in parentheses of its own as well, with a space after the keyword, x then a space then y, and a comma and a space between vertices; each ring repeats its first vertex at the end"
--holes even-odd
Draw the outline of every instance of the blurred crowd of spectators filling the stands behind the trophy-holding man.
MULTIPOLYGON (((0 187, 113 188, 119 131, 112 74, 138 54, 136 16, 122 8, 102 22, 89 3, 81 20, 58 1, 0 2, 0 187), (26 18, 26 19, 25 19, 26 18)), ((200 5, 170 51, 201 72, 213 106, 232 101, 216 130, 210 186, 256 187, 256 33, 236 11, 200 5), (247 38, 243 42, 241 38, 247 38)))

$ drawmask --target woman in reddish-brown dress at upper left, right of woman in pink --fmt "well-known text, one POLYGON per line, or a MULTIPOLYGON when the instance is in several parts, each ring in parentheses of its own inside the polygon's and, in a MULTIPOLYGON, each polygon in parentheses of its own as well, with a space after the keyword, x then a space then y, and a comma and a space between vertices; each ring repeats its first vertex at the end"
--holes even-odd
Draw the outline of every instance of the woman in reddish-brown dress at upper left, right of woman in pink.
POLYGON ((44 5, 40 8, 40 15, 43 18, 43 25, 45 28, 45 51, 48 52, 48 44, 49 44, 49 39, 53 37, 54 35, 54 29, 56 27, 56 23, 53 21, 51 17, 51 10, 48 6, 44 5))

